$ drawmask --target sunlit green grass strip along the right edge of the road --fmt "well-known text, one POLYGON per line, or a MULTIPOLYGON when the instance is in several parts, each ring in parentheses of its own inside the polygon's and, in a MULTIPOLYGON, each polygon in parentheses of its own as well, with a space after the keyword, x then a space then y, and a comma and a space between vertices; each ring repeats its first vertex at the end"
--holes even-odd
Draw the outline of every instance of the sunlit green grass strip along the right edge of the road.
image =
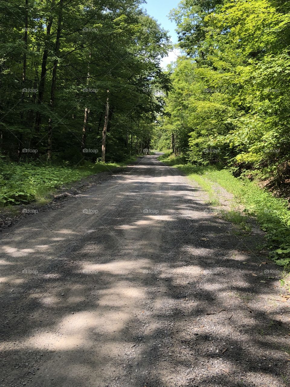
MULTIPOLYGON (((254 216, 261 229, 266 232, 267 245, 276 264, 290 265, 290 211, 287 200, 274 197, 270 192, 260 188, 256 182, 235 178, 226 169, 185 164, 184 158, 175 157, 170 152, 165 152, 159 159, 182 170, 212 196, 213 183, 218 183, 233 194, 236 202, 246 207, 244 215, 254 216)), ((228 216, 229 220, 237 218, 236 213, 228 216)), ((237 222, 241 223, 241 219, 237 222)))

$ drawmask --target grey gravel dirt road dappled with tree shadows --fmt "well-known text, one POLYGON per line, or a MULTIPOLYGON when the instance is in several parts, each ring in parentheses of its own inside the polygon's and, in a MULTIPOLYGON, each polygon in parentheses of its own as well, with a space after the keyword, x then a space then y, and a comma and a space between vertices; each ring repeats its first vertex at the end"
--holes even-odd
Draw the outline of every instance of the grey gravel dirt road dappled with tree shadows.
POLYGON ((205 198, 148 156, 3 232, 1 385, 289 386, 277 267, 205 198))

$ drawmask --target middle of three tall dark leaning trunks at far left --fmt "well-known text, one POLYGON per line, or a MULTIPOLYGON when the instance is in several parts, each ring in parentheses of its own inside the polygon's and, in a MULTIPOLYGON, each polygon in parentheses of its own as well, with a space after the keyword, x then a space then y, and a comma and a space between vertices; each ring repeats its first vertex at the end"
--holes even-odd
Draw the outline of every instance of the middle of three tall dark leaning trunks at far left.
POLYGON ((43 103, 43 96, 44 96, 44 87, 45 87, 45 77, 46 77, 46 63, 48 59, 48 39, 50 37, 50 31, 51 31, 51 25, 53 22, 53 16, 52 16, 52 10, 55 5, 55 0, 51 1, 51 15, 49 16, 48 23, 46 25, 46 42, 44 45, 44 51, 43 51, 43 57, 42 57, 42 63, 41 63, 41 76, 39 81, 39 91, 38 91, 38 111, 36 112, 36 118, 35 118, 35 129, 36 132, 39 132, 39 127, 41 124, 41 113, 39 111, 40 105, 43 103))

